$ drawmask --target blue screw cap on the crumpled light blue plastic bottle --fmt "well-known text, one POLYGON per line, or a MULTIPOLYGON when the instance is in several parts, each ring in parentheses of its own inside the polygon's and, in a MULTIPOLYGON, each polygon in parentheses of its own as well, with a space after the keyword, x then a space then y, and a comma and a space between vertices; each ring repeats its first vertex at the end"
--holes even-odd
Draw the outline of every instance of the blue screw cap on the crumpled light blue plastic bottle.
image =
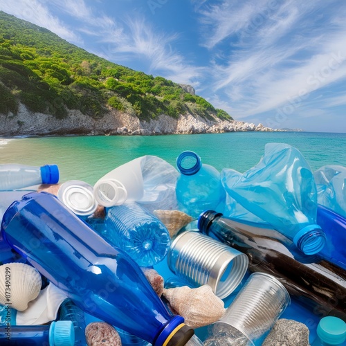
POLYGON ((325 246, 326 236, 320 226, 309 225, 294 236, 293 242, 305 255, 315 255, 325 246))

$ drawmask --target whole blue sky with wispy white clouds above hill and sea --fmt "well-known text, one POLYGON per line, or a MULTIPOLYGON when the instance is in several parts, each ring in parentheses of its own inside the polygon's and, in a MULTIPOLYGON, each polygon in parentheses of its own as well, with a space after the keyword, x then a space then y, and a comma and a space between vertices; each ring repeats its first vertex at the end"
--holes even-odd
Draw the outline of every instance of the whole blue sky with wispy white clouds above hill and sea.
POLYGON ((343 0, 0 0, 0 10, 191 84, 236 120, 346 132, 343 0))

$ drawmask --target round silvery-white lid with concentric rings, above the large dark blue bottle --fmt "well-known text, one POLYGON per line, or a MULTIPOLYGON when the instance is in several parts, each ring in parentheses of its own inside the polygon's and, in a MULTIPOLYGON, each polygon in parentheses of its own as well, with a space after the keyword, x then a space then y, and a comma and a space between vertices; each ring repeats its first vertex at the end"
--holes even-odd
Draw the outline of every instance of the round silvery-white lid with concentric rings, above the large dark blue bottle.
POLYGON ((93 197, 93 187, 80 180, 63 183, 57 192, 57 198, 80 216, 93 215, 98 208, 98 203, 93 197))

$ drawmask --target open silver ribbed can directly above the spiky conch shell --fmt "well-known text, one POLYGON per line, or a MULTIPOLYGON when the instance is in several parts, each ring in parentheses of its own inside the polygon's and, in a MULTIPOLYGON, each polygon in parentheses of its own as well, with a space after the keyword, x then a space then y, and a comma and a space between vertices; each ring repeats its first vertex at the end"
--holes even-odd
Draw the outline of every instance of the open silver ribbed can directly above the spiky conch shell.
POLYGON ((221 299, 237 288, 248 268, 244 253, 194 231, 174 239, 167 262, 176 276, 194 287, 208 284, 221 299))

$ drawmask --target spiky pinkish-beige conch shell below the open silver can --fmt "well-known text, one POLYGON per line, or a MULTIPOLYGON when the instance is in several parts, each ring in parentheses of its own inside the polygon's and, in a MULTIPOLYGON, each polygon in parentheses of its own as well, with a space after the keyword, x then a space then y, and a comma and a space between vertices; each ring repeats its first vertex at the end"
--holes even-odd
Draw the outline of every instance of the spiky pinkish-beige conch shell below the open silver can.
POLYGON ((192 328, 210 325, 226 312, 224 302, 212 293, 208 284, 197 289, 188 286, 164 289, 163 296, 172 309, 185 319, 186 325, 192 328))

